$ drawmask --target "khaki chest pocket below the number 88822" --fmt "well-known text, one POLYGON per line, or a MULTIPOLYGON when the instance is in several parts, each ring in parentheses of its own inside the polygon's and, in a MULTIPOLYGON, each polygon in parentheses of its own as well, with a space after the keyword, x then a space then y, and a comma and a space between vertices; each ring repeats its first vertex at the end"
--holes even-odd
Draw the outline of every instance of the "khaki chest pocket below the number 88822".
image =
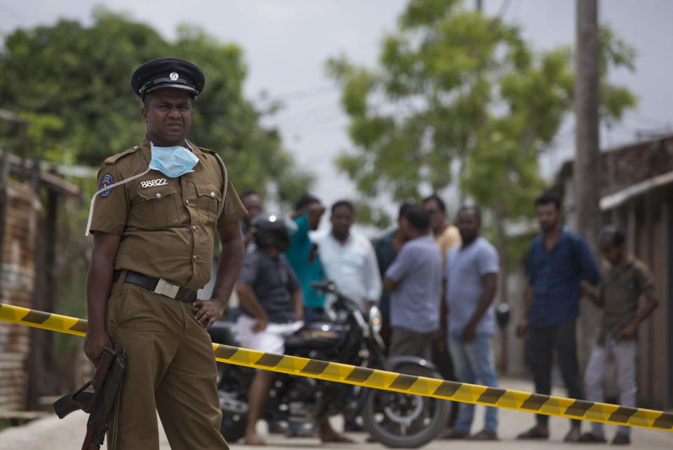
POLYGON ((172 185, 141 189, 131 200, 129 225, 145 230, 163 230, 179 224, 182 202, 172 185))

